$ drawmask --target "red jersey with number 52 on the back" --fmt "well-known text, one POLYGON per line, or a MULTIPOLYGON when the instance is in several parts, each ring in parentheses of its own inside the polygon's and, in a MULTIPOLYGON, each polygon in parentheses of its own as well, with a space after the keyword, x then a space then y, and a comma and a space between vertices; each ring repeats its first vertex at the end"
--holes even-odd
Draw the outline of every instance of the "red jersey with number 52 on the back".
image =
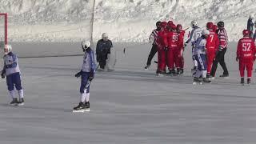
POLYGON ((255 45, 253 38, 244 37, 239 40, 237 58, 255 58, 255 45))

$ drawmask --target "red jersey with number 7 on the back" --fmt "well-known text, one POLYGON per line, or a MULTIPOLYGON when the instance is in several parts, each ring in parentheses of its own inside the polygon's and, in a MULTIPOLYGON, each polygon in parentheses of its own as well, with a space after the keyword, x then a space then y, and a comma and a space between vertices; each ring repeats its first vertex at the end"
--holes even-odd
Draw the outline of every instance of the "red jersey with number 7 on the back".
POLYGON ((218 50, 218 34, 214 32, 214 30, 209 30, 210 35, 208 38, 206 38, 206 50, 218 50))

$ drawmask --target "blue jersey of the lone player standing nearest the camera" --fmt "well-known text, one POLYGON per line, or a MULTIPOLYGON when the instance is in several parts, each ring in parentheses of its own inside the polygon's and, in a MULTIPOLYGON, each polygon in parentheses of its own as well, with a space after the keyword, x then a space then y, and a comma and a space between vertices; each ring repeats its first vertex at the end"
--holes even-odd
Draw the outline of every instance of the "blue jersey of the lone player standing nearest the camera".
MULTIPOLYGON (((90 48, 88 48, 90 49, 90 48)), ((82 71, 83 72, 90 72, 96 70, 96 64, 94 60, 94 51, 93 50, 86 50, 83 56, 83 63, 82 63, 82 71)))

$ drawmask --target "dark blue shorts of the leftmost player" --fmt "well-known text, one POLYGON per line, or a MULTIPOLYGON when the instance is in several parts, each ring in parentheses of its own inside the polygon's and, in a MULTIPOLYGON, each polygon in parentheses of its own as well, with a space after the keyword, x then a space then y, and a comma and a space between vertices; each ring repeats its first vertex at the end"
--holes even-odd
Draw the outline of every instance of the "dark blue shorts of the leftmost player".
POLYGON ((22 90, 21 76, 19 73, 7 75, 6 83, 9 91, 14 90, 14 85, 16 87, 16 90, 22 90))

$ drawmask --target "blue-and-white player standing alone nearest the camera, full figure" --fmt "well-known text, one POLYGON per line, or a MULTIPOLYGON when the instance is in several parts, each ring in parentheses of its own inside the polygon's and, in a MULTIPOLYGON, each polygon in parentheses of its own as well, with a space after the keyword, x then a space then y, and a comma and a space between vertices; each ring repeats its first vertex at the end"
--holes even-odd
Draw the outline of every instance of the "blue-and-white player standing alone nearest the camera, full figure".
POLYGON ((80 102, 74 107, 73 112, 90 111, 90 82, 94 79, 96 65, 94 62, 94 51, 90 48, 89 41, 82 42, 82 50, 85 52, 83 57, 82 70, 75 74, 75 77, 81 77, 80 102))

